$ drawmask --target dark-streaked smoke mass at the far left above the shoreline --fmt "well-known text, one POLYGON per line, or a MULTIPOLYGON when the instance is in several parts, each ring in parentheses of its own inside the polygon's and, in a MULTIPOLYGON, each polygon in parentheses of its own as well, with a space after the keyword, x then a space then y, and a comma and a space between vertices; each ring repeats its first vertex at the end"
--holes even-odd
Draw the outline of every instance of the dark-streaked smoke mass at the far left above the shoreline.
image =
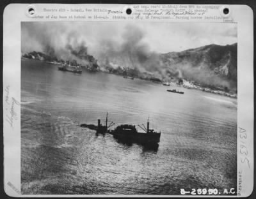
POLYGON ((22 54, 39 51, 63 61, 76 61, 86 65, 95 62, 88 54, 86 41, 78 31, 63 24, 22 22, 22 54))

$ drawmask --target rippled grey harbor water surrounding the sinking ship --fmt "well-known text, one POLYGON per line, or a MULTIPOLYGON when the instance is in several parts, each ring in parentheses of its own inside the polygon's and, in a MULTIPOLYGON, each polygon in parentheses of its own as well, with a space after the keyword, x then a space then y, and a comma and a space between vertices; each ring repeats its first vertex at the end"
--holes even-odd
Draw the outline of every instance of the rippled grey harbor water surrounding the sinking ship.
POLYGON ((179 195, 180 188, 236 188, 236 99, 183 88, 180 95, 143 80, 76 75, 30 60, 22 60, 21 86, 24 194, 179 195), (116 124, 145 124, 149 115, 152 128, 161 130, 158 149, 78 126, 96 124, 98 117, 104 122, 106 111, 116 124))

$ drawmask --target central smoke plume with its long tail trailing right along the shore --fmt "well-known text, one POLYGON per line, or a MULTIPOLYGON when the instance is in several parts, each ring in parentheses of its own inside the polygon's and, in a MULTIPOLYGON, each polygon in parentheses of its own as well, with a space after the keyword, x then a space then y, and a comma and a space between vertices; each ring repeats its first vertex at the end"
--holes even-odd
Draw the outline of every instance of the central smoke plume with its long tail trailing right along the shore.
MULTIPOLYGON (((122 42, 103 40, 100 42, 100 66, 116 66, 135 68, 141 72, 148 72, 164 81, 187 78, 204 84, 225 85, 228 82, 212 74, 212 71, 198 70, 191 63, 183 59, 164 60, 161 54, 153 52, 145 43, 145 32, 136 26, 126 26, 122 34, 122 42), (176 61, 174 61, 176 60, 176 61), (178 62, 177 62, 178 60, 178 62), (111 64, 110 64, 111 63, 111 64)), ((204 68, 204 67, 203 67, 204 68)))

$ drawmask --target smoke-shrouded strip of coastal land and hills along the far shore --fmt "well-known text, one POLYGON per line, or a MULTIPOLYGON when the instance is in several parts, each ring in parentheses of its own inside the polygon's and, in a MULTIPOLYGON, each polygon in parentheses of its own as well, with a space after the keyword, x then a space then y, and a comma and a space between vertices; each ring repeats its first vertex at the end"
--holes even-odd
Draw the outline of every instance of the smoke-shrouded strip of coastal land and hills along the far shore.
MULTIPOLYGON (((70 47, 71 48, 71 47, 70 47)), ((152 53, 142 61, 121 66, 118 57, 109 56, 98 61, 86 52, 79 54, 79 60, 58 59, 46 52, 28 52, 22 57, 38 59, 49 63, 68 62, 73 66, 82 66, 89 71, 102 71, 122 75, 127 78, 141 78, 154 82, 182 85, 236 98, 237 96, 237 43, 232 45, 206 45, 182 52, 166 54, 152 53), (79 63, 81 61, 82 63, 79 63), (102 61, 104 60, 104 61, 102 61)), ((99 57, 100 59, 100 57, 99 57)))

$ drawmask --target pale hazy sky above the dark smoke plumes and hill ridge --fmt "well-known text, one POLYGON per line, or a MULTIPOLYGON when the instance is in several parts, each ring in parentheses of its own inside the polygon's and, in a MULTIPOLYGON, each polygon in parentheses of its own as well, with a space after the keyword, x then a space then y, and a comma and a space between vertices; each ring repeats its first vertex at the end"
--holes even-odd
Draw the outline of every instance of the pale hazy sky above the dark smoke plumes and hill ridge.
POLYGON ((84 41, 88 52, 97 57, 102 41, 122 43, 127 26, 143 30, 143 42, 159 53, 179 52, 215 43, 237 42, 236 24, 191 22, 22 22, 22 52, 42 49, 51 43, 56 49, 65 47, 69 36, 84 41))

